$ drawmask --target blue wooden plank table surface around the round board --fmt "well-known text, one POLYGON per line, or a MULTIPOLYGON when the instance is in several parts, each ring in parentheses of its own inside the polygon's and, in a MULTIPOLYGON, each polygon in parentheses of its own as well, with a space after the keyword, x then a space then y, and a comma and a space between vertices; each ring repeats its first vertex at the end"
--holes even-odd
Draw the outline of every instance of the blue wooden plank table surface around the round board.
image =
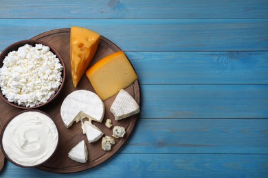
POLYGON ((267 0, 3 0, 0 51, 71 25, 128 55, 142 92, 135 130, 95 168, 6 162, 0 177, 268 177, 267 0))

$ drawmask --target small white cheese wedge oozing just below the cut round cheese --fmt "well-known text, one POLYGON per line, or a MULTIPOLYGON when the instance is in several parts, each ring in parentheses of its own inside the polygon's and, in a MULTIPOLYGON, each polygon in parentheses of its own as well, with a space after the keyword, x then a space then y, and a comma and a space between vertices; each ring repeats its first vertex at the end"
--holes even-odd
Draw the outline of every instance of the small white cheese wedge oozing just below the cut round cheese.
POLYGON ((82 123, 83 133, 86 134, 89 143, 96 142, 103 136, 103 132, 91 123, 91 120, 82 123))

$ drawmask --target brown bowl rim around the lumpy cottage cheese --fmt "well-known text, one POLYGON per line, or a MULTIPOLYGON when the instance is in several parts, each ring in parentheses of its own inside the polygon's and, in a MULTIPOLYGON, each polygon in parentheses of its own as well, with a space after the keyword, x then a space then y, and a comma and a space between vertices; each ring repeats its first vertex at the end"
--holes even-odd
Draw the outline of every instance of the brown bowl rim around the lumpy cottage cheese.
POLYGON ((5 59, 5 56, 8 55, 8 53, 10 51, 17 51, 19 49, 19 47, 22 47, 25 44, 30 44, 30 45, 34 45, 34 44, 43 44, 47 47, 49 47, 49 51, 52 51, 52 53, 54 53, 54 55, 56 55, 56 57, 58 58, 58 60, 60 60, 60 64, 63 66, 63 71, 62 71, 62 78, 63 81, 61 82, 58 90, 56 90, 56 93, 45 103, 42 103, 41 105, 35 105, 33 107, 25 107, 23 105, 18 105, 16 103, 10 102, 8 101, 7 98, 5 98, 5 96, 3 96, 2 90, 0 89, 0 97, 1 99, 3 99, 3 101, 5 101, 5 103, 8 103, 9 105, 12 105, 14 107, 18 107, 20 109, 35 109, 37 107, 42 107, 44 105, 47 105, 49 103, 51 103, 51 101, 53 101, 58 94, 60 94, 60 91, 63 89, 64 83, 65 83, 65 64, 63 62, 63 58, 61 58, 60 54, 58 53, 58 51, 56 51, 56 49, 54 49, 54 47, 52 47, 51 44, 48 44, 47 42, 43 42, 40 40, 21 40, 18 42, 14 42, 13 44, 10 44, 10 46, 6 47, 0 54, 0 68, 3 66, 3 60, 5 59))

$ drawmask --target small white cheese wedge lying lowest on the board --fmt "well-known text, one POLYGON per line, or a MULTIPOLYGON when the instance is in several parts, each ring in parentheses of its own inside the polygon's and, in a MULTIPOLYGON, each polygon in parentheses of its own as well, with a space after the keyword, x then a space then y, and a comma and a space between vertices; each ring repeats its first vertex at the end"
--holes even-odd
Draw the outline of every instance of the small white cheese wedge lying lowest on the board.
POLYGON ((74 160, 76 162, 85 163, 87 162, 87 145, 84 140, 76 144, 74 148, 71 149, 71 151, 68 153, 69 158, 71 160, 74 160))

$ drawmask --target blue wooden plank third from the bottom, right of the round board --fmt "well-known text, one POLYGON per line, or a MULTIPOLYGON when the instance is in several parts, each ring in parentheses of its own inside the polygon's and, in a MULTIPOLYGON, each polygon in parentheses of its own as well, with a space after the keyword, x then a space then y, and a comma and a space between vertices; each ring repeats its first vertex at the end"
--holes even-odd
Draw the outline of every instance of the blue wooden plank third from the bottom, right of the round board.
POLYGON ((268 85, 142 85, 142 118, 268 118, 268 85))

